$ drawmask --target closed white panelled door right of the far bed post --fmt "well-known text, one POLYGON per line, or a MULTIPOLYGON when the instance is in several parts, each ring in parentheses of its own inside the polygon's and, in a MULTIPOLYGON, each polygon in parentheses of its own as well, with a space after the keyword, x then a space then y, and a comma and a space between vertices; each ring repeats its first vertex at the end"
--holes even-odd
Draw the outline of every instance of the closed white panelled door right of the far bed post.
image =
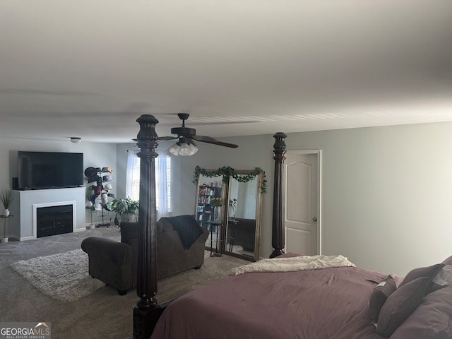
POLYGON ((319 156, 319 153, 286 153, 285 252, 320 254, 319 156))

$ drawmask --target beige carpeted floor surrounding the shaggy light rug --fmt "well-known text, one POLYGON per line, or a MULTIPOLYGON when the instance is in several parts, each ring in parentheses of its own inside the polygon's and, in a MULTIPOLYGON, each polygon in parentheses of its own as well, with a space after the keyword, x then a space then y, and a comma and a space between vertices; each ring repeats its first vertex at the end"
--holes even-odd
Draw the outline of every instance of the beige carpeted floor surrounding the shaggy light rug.
MULTIPOLYGON (((112 287, 102 287, 75 302, 52 299, 20 277, 11 263, 37 256, 80 249, 85 237, 119 239, 116 227, 61 234, 27 242, 10 239, 0 244, 0 321, 46 321, 52 323, 53 339, 132 338, 132 312, 136 290, 119 296, 112 287)), ((201 270, 187 270, 158 282, 157 300, 162 303, 227 276, 234 267, 248 261, 231 256, 206 258, 201 270)))

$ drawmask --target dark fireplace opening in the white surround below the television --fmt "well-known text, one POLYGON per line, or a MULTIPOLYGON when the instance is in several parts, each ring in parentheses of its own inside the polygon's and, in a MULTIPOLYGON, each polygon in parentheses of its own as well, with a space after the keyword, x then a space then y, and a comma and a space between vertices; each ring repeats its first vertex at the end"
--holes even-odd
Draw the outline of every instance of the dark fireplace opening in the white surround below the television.
POLYGON ((37 237, 71 233, 73 229, 72 207, 72 205, 61 205, 37 208, 37 237))

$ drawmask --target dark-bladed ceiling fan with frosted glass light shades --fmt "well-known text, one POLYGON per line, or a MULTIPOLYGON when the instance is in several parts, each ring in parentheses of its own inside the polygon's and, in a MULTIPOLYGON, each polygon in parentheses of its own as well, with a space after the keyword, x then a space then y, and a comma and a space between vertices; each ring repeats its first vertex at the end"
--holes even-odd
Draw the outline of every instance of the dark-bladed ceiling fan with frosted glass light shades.
POLYGON ((169 148, 169 152, 174 155, 194 155, 198 148, 196 148, 196 144, 194 140, 201 141, 203 143, 213 143, 214 145, 220 145, 230 148, 237 148, 238 145, 234 145, 233 143, 224 143, 222 141, 218 141, 210 136, 197 136, 196 129, 191 129, 190 127, 185 126, 186 119, 189 119, 190 114, 188 113, 178 113, 177 116, 182 120, 181 127, 173 127, 171 129, 171 133, 176 136, 159 136, 158 140, 174 140, 178 139, 177 143, 172 145, 169 148))

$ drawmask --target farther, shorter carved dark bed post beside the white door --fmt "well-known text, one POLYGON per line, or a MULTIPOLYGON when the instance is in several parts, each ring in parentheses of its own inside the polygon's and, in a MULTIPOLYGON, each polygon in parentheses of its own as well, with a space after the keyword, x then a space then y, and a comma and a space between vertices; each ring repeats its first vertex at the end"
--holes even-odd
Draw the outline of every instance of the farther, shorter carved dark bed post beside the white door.
POLYGON ((275 133, 275 144, 273 145, 273 153, 275 156, 275 181, 273 184, 273 225, 271 234, 271 245, 273 246, 273 252, 270 254, 270 258, 280 256, 284 254, 284 211, 283 211, 283 162, 285 160, 285 133, 275 133))

